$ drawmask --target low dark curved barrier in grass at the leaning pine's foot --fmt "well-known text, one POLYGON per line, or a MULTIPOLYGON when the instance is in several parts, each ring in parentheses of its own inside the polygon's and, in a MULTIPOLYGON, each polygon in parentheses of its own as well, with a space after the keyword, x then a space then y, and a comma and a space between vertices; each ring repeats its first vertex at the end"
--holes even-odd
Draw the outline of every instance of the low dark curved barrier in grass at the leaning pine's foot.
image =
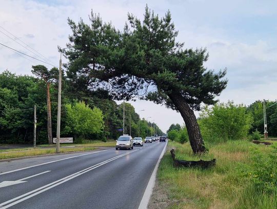
POLYGON ((173 164, 175 167, 202 167, 208 168, 215 165, 215 159, 211 161, 199 160, 199 161, 190 161, 190 160, 176 160, 175 159, 175 150, 170 150, 171 157, 173 159, 173 164))

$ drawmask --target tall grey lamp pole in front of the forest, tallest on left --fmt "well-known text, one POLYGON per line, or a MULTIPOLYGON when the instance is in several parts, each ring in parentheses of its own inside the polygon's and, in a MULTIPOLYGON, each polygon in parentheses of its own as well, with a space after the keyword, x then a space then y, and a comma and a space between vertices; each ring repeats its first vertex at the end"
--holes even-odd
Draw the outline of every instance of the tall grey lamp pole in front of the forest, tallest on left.
POLYGON ((60 67, 58 69, 58 111, 57 111, 57 136, 56 136, 56 153, 60 153, 60 134, 61 134, 61 103, 62 103, 62 50, 69 47, 60 49, 60 67))

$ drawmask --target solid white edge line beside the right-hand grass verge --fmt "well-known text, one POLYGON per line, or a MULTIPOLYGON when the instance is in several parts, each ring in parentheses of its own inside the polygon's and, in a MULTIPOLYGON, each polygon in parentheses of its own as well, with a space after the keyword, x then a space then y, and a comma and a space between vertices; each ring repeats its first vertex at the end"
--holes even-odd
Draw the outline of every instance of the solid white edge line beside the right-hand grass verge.
POLYGON ((161 159, 162 157, 164 156, 164 153, 165 153, 165 150, 166 150, 166 146, 167 146, 167 142, 166 141, 166 145, 157 161, 157 164, 153 170, 153 173, 148 181, 148 184, 147 184, 147 187, 145 189, 145 192, 144 192, 144 195, 143 195, 143 198, 141 200, 141 203, 140 203, 140 206, 138 206, 138 209, 147 209, 147 205, 149 203, 149 200, 150 200, 150 197, 152 195, 152 192, 153 192, 153 188, 154 188, 154 185, 155 185, 155 181, 156 181, 156 174, 157 174, 157 168, 159 167, 160 165, 160 162, 161 162, 161 159))

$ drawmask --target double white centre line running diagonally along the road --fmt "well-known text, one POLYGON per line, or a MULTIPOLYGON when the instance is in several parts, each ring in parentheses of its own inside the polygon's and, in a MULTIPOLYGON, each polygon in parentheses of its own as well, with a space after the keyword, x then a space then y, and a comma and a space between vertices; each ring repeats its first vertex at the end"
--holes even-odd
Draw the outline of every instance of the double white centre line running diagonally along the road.
POLYGON ((74 179, 74 178, 76 178, 76 177, 78 177, 78 176, 80 176, 80 175, 82 175, 82 174, 85 174, 85 173, 87 173, 87 172, 90 172, 91 170, 93 170, 93 169, 95 169, 95 168, 97 168, 97 167, 100 167, 100 166, 102 166, 102 165, 105 165, 105 164, 107 164, 107 163, 109 163, 109 162, 111 162, 111 161, 113 161, 113 160, 116 160, 117 158, 121 158, 121 157, 126 156, 126 155, 128 155, 128 154, 131 154, 131 153, 133 153, 134 151, 137 151, 137 150, 138 150, 138 149, 135 149, 135 150, 133 150, 133 151, 129 151, 128 153, 125 153, 125 154, 122 154, 122 155, 119 155, 119 156, 115 156, 115 157, 110 158, 110 159, 108 159, 108 160, 105 160, 105 161, 103 161, 103 162, 101 162, 101 163, 98 163, 98 164, 96 164, 96 165, 93 165, 93 166, 90 166, 90 167, 85 168, 85 169, 83 169, 83 170, 80 170, 79 172, 76 172, 76 173, 74 173, 74 174, 71 174, 71 175, 69 175, 69 176, 67 176, 67 177, 64 177, 64 178, 62 178, 62 179, 59 179, 59 180, 54 181, 54 182, 52 182, 52 183, 49 183, 49 184, 47 184, 47 185, 45 185, 45 186, 39 187, 39 188, 37 188, 37 189, 34 189, 34 190, 31 191, 31 192, 28 192, 28 193, 26 193, 26 194, 23 194, 23 195, 21 195, 21 196, 18 196, 18 197, 15 197, 15 198, 11 199, 11 200, 8 200, 8 201, 6 201, 6 202, 3 202, 3 203, 0 204, 0 208, 1 208, 1 209, 4 209, 4 208, 11 207, 11 206, 13 206, 13 205, 15 205, 15 204, 17 204, 17 203, 19 203, 19 202, 22 202, 22 201, 24 201, 24 200, 27 200, 27 199, 29 199, 29 198, 31 198, 31 197, 33 197, 33 196, 36 196, 36 195, 38 195, 38 194, 40 194, 40 193, 43 193, 43 192, 47 191, 47 190, 50 189, 50 188, 53 188, 53 187, 55 187, 55 186, 57 186, 57 185, 60 185, 60 184, 62 184, 62 183, 64 183, 64 182, 67 182, 67 181, 69 181, 69 180, 71 180, 71 179, 74 179), (28 196, 28 195, 29 195, 29 196, 28 196), (20 198, 22 198, 22 199, 20 199, 20 198), (18 200, 18 199, 19 199, 19 200, 18 200), (15 200, 17 200, 17 201, 15 201, 15 200), (13 201, 15 201, 15 202, 13 202, 13 201), (12 203, 11 203, 11 204, 8 204, 8 203, 10 203, 10 202, 12 202, 12 203), (7 204, 8 204, 8 205, 7 205, 7 204), (6 206, 3 206, 3 205, 6 205, 6 206), (1 207, 1 206, 2 206, 2 207, 1 207))

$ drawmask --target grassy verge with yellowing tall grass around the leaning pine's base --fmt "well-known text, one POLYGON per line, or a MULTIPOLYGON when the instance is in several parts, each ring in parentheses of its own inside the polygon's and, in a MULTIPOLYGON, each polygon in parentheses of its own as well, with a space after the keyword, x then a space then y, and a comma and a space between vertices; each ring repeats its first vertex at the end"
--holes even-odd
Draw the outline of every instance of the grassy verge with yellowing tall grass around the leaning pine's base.
MULTIPOLYGON (((192 154, 189 143, 169 142, 168 146, 176 149, 176 159, 200 159, 200 156, 192 154)), ((277 197, 256 192, 242 172, 244 166, 252 163, 252 148, 258 147, 263 153, 270 153, 270 146, 229 141, 208 147, 209 153, 201 156, 201 159, 216 158, 216 166, 206 170, 176 169, 169 151, 166 152, 157 179, 165 187, 168 208, 277 208, 277 197)))

